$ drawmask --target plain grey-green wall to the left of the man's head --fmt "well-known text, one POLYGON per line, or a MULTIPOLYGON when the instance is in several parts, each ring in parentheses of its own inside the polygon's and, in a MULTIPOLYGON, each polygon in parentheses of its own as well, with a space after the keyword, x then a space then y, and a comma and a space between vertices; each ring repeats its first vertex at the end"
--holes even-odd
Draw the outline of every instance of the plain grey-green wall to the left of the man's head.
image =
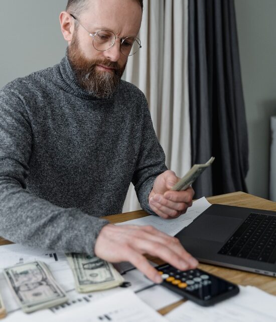
POLYGON ((66 0, 1 0, 0 88, 60 62, 67 47, 59 14, 66 0))

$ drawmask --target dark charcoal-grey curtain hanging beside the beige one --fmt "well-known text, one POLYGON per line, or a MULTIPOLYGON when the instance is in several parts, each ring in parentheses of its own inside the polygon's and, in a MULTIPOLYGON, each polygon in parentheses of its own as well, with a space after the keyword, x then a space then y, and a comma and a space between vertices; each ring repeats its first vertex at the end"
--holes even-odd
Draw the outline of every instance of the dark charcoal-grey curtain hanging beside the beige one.
POLYGON ((247 191, 248 140, 233 0, 189 0, 192 164, 215 161, 195 197, 247 191))

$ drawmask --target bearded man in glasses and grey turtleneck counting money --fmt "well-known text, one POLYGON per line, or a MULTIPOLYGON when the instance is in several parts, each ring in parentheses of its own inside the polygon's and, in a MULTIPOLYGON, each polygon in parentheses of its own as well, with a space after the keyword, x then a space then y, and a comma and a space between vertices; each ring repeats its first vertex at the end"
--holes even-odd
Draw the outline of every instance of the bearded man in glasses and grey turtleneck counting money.
POLYGON ((179 269, 196 259, 150 226, 115 226, 129 183, 142 207, 174 218, 194 191, 171 191, 143 93, 120 81, 140 47, 141 0, 69 0, 61 63, 0 91, 0 235, 31 246, 129 261, 155 282, 148 253, 179 269), (131 58, 130 58, 131 59, 131 58))

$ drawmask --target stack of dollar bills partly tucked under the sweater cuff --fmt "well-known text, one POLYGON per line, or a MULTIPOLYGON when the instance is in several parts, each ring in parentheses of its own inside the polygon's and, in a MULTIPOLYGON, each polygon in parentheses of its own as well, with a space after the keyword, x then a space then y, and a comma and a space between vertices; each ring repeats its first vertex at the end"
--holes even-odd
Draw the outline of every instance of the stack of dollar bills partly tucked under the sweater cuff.
POLYGON ((76 290, 80 293, 115 287, 124 281, 113 265, 105 260, 78 253, 66 256, 74 274, 76 290))

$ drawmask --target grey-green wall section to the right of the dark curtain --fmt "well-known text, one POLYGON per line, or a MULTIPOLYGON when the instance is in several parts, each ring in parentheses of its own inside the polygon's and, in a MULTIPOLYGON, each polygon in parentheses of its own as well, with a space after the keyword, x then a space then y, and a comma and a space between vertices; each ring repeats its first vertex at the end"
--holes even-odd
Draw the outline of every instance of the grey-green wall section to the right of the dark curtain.
MULTIPOLYGON (((249 135, 249 193, 268 198, 269 117, 276 115, 276 1, 235 0, 249 135)), ((276 165, 275 165, 276 167, 276 165)))

